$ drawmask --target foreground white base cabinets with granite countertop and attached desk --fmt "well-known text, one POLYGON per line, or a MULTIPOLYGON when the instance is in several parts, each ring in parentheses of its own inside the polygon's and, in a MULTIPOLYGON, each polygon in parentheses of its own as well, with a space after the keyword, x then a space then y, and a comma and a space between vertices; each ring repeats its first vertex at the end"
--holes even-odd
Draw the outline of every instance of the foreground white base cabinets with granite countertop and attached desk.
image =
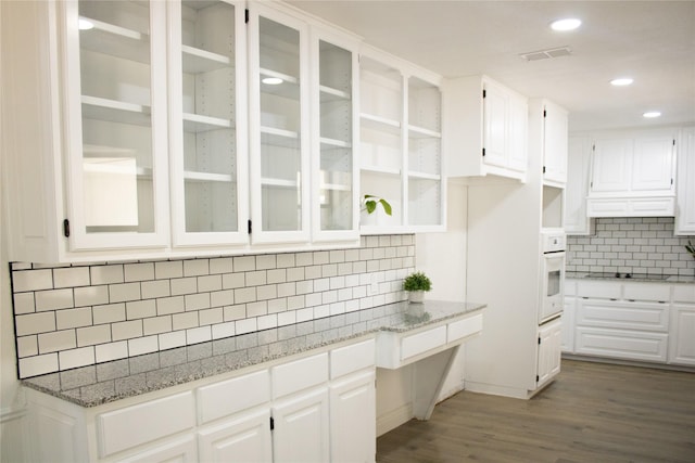
POLYGON ((376 369, 417 362, 412 416, 427 420, 451 366, 441 355, 483 317, 484 305, 400 303, 27 378, 33 458, 375 461, 376 369))

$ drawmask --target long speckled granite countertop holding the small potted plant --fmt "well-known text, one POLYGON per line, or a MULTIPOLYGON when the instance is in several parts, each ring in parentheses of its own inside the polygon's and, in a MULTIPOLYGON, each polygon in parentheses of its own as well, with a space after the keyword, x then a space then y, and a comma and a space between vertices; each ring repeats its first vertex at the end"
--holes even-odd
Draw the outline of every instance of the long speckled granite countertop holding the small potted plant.
POLYGON ((404 333, 475 312, 484 304, 407 301, 114 360, 22 381, 81 407, 96 407, 244 366, 330 346, 379 331, 404 333), (420 305, 416 305, 420 306, 420 305))

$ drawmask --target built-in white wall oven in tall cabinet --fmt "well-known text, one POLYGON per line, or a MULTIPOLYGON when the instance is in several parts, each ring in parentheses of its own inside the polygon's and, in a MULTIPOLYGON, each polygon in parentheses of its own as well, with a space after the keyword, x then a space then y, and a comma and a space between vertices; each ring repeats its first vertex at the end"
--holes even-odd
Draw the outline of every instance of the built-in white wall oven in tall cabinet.
POLYGON ((539 324, 556 318, 565 304, 565 247, 564 231, 541 233, 541 307, 539 324))

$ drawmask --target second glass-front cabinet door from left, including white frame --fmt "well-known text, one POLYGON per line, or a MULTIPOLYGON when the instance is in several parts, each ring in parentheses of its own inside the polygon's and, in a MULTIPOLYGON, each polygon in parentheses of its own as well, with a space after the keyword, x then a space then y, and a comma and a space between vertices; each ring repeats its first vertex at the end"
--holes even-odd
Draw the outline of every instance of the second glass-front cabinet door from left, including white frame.
POLYGON ((243 2, 168 2, 174 246, 248 242, 243 2))

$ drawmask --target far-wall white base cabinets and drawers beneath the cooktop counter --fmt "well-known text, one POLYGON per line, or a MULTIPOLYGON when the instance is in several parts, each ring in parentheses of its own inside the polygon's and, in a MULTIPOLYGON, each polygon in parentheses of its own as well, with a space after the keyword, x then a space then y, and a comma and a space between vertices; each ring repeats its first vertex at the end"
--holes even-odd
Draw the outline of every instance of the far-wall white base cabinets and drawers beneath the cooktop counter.
POLYGON ((695 366, 695 283, 634 280, 567 280, 563 352, 695 366))

